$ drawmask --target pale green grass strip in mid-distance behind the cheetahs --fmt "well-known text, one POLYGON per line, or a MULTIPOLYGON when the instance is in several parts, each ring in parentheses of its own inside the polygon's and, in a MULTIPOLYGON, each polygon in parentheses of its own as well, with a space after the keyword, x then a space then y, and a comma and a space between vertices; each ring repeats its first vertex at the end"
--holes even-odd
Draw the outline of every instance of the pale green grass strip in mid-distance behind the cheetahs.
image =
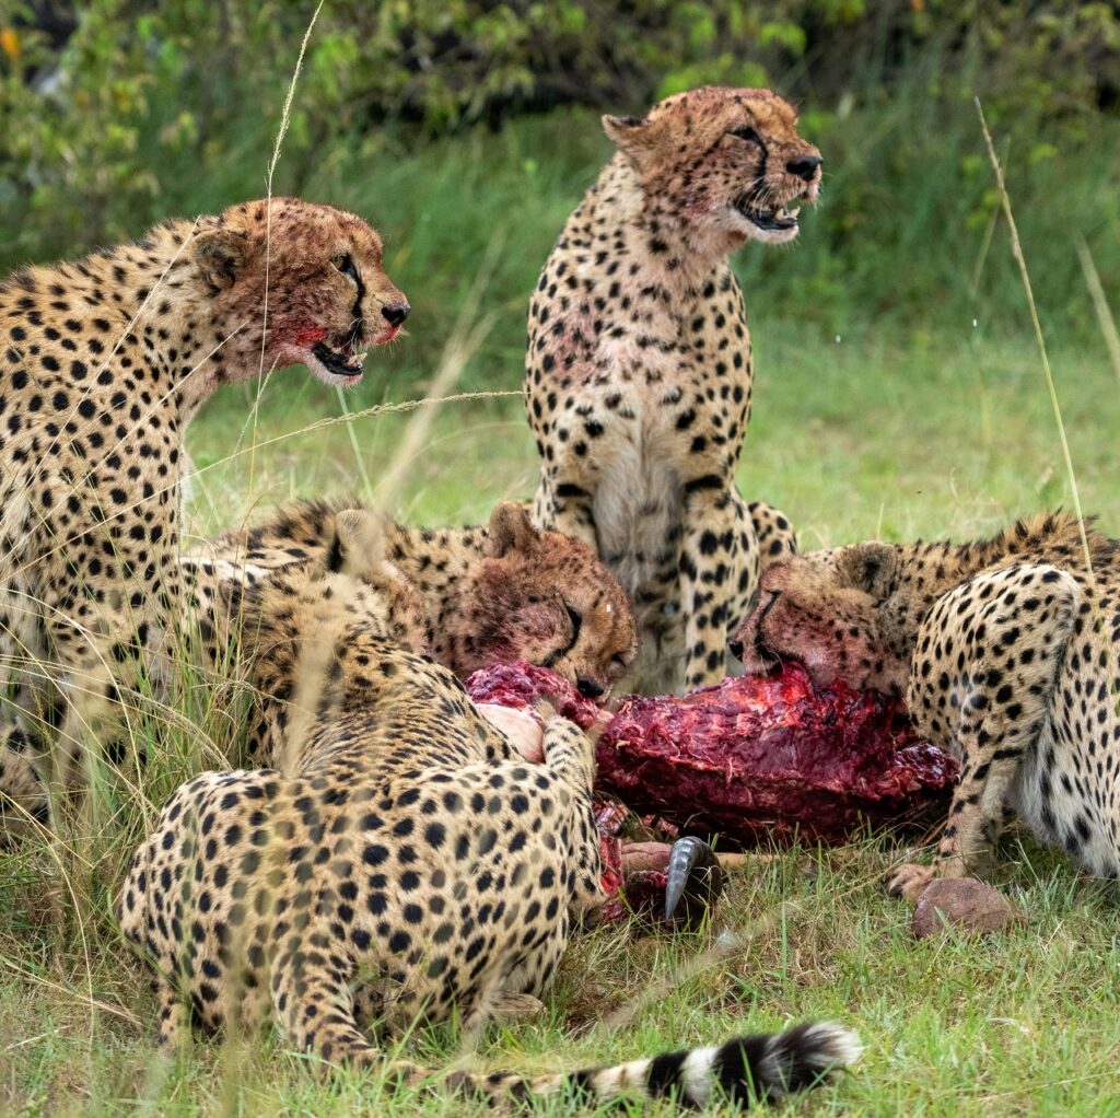
MULTIPOLYGON (((756 319, 755 412, 738 475, 744 493, 782 506, 805 549, 868 537, 964 538, 1067 505, 1033 341, 979 335, 964 325, 946 328, 937 344, 898 330, 827 342, 796 320, 756 319)), ((225 390, 188 437, 200 469, 196 529, 240 523, 253 507, 292 495, 362 494, 363 478, 375 487, 407 417, 374 414, 298 432, 340 417, 344 407, 375 408, 393 399, 393 383, 419 380, 410 346, 408 339, 393 353, 374 352, 372 383, 344 398, 302 371, 274 375, 249 430, 255 385, 225 390), (223 462, 239 440, 245 448, 254 438, 278 441, 223 462)), ((1083 503, 1120 533, 1117 374, 1100 344, 1060 342, 1052 357, 1083 503)), ((519 390, 520 354, 504 367, 495 389, 519 390)), ((535 475, 520 398, 448 404, 399 511, 416 523, 482 518, 503 496, 529 496, 535 475)))

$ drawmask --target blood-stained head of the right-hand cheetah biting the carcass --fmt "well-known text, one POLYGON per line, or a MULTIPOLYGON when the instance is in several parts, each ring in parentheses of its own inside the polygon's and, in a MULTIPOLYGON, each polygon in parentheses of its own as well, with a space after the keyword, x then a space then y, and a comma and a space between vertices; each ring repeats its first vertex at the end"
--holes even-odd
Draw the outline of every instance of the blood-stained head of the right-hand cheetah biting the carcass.
POLYGON ((898 549, 856 543, 812 551, 763 572, 758 605, 731 642, 748 672, 797 660, 820 684, 904 693, 909 654, 899 634, 898 549))

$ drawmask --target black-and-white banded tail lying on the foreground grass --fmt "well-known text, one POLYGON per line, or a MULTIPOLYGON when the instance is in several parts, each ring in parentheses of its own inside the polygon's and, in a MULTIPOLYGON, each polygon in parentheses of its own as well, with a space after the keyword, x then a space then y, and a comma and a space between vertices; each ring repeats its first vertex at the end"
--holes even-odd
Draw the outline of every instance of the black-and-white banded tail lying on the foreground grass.
POLYGON ((702 1107, 715 1097, 746 1109, 753 1101, 776 1101, 791 1091, 819 1086, 838 1068, 853 1064, 861 1051, 859 1037, 850 1030, 816 1022, 785 1033, 739 1036, 718 1046, 669 1052, 615 1068, 536 1079, 459 1074, 455 1082, 489 1094, 564 1094, 582 1103, 631 1094, 669 1097, 702 1107))

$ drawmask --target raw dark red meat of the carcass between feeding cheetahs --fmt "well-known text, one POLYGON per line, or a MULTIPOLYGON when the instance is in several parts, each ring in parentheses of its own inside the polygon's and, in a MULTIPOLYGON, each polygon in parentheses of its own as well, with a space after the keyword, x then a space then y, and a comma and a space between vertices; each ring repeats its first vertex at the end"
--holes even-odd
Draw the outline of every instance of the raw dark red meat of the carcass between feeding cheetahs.
MULTIPOLYGON (((467 689, 520 708, 544 698, 585 727, 599 715, 566 680, 528 664, 476 672, 467 689)), ((683 698, 632 696, 599 737, 597 786, 725 844, 839 844, 952 792, 956 762, 900 715, 875 691, 816 687, 799 664, 683 698)))

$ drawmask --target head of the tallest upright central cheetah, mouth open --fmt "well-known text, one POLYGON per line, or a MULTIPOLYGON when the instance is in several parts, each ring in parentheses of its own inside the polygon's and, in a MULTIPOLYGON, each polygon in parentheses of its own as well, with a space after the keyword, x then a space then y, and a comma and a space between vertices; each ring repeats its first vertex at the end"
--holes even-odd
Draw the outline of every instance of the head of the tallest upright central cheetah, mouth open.
POLYGON ((643 194, 671 206, 693 240, 721 251, 797 235, 797 203, 815 202, 821 153, 797 114, 769 90, 706 85, 659 102, 642 118, 604 117, 643 194))

